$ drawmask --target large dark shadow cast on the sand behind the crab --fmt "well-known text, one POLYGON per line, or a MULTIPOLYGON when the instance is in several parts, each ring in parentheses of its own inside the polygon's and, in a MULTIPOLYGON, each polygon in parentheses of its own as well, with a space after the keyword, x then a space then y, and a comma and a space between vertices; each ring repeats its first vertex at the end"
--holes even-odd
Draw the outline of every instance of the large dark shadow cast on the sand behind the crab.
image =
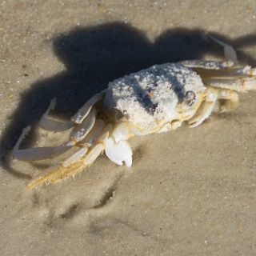
MULTIPOLYGON (((230 40, 215 34, 236 46, 250 46, 255 36, 230 40)), ((205 31, 190 29, 166 30, 154 42, 133 26, 111 22, 101 26, 76 27, 52 39, 54 54, 66 70, 53 77, 35 82, 22 92, 17 110, 2 133, 1 164, 18 178, 30 178, 10 166, 6 157, 24 127, 38 121, 52 98, 58 98, 55 113, 69 118, 88 98, 103 90, 108 82, 154 64, 200 59, 210 53, 222 57, 222 50, 206 40, 205 31)), ((255 66, 256 59, 238 51, 242 61, 255 66)))

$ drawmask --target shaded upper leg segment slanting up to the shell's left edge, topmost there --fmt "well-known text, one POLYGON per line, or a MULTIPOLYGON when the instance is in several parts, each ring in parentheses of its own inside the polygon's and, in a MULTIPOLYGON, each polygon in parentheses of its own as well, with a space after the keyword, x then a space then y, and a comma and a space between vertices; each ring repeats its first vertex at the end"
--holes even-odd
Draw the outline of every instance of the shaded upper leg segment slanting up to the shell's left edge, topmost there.
POLYGON ((95 105, 96 102, 102 99, 105 90, 102 92, 95 94, 92 98, 90 98, 81 109, 78 110, 78 113, 71 118, 72 122, 82 123, 82 121, 86 118, 86 116, 90 113, 91 108, 95 105))

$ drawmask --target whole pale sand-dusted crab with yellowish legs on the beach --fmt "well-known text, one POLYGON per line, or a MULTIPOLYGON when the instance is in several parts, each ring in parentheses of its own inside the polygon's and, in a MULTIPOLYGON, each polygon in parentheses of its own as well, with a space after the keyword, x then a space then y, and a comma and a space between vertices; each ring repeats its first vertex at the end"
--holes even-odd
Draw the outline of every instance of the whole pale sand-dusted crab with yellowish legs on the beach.
POLYGON ((186 122, 195 127, 214 110, 238 106, 237 92, 256 89, 256 69, 238 66, 234 48, 209 37, 223 47, 225 61, 192 60, 155 65, 109 83, 90 98, 69 122, 50 118, 56 99, 39 125, 54 132, 70 130, 59 146, 20 149, 30 126, 22 130, 13 149, 14 159, 38 161, 54 158, 75 147, 74 153, 50 166, 26 188, 55 183, 90 166, 104 151, 118 166, 132 166, 127 140, 133 136, 176 130, 186 122))

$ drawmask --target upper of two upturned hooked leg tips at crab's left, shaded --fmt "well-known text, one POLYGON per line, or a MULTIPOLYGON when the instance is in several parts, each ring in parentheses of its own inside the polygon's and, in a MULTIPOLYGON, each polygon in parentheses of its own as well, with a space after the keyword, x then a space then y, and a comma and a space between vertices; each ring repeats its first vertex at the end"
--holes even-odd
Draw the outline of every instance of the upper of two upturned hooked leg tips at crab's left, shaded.
POLYGON ((42 118, 39 121, 39 126, 44 130, 50 131, 63 131, 70 129, 74 124, 73 122, 60 122, 49 118, 50 110, 54 110, 56 106, 56 98, 53 98, 50 101, 50 106, 47 108, 45 114, 42 115, 42 118))

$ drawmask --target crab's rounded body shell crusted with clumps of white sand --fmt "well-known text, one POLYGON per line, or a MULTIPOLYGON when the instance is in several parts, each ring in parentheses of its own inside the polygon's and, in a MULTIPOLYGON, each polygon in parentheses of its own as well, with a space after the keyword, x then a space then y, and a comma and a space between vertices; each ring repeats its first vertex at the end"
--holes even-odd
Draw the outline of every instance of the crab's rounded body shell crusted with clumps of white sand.
POLYGON ((205 90, 196 72, 166 63, 110 82, 103 104, 115 122, 129 122, 136 135, 150 134, 171 122, 186 120, 197 110, 205 90), (190 92, 194 93, 193 104, 187 102, 190 92))

